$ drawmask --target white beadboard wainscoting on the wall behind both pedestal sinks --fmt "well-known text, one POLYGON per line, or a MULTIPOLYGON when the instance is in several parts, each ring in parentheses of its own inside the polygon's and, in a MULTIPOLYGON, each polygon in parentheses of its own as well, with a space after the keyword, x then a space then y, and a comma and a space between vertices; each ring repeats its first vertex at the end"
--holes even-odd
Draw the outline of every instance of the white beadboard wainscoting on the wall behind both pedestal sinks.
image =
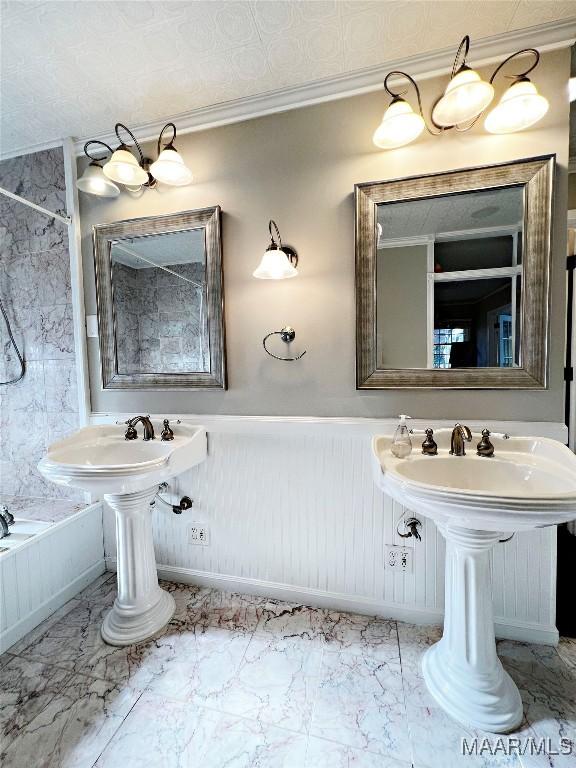
MULTIPOLYGON (((119 418, 97 416, 94 421, 119 418)), ((374 484, 370 436, 389 432, 393 422, 186 421, 206 426, 209 455, 170 483, 170 500, 189 495, 191 510, 175 515, 161 504, 153 510, 163 578, 416 623, 441 622, 444 541, 427 519, 422 519, 422 541, 400 539, 396 526, 405 510, 374 484), (192 523, 198 522, 208 527, 207 546, 190 543, 192 523), (412 549, 412 573, 386 570, 384 548, 390 544, 412 549)), ((491 426, 566 439, 563 425, 491 426)), ((115 525, 109 509, 104 542, 113 569, 115 525)), ((557 642, 555 570, 555 528, 517 534, 497 547, 493 590, 500 637, 557 642)))

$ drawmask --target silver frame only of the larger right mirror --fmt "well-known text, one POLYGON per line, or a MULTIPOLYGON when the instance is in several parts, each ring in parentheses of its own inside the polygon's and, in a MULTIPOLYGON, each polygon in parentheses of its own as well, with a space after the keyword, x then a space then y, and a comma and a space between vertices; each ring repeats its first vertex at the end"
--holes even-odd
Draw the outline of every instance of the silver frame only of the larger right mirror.
POLYGON ((500 165, 356 184, 356 388, 546 389, 555 155, 500 165), (376 358, 376 216, 380 203, 523 187, 520 367, 383 369, 376 358))

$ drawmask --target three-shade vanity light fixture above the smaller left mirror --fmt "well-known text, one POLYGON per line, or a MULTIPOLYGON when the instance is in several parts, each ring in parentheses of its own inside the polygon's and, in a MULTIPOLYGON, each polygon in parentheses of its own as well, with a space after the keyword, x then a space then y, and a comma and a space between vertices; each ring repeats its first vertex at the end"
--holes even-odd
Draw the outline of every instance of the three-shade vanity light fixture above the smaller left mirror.
POLYGON ((138 140, 122 123, 116 123, 114 131, 120 145, 113 150, 103 141, 90 140, 84 145, 84 154, 90 159, 90 165, 77 181, 77 187, 82 192, 87 192, 98 197, 117 197, 120 194, 122 184, 129 192, 138 192, 142 187, 155 187, 158 181, 171 186, 182 186, 192 181, 192 173, 178 154, 174 146, 176 139, 176 126, 174 123, 166 123, 158 137, 158 159, 152 162, 144 157, 138 140), (173 131, 169 143, 161 149, 162 137, 167 128, 173 131), (134 143, 134 148, 128 146, 120 136, 120 129, 126 131, 134 143), (104 158, 95 158, 90 154, 89 147, 99 144, 110 154, 109 160, 101 165, 104 158))

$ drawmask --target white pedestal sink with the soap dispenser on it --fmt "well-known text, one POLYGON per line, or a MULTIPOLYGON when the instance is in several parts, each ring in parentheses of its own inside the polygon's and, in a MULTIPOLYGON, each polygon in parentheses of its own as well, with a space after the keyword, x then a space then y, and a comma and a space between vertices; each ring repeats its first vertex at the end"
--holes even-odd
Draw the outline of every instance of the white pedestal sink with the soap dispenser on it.
POLYGON ((490 551, 516 531, 576 518, 576 456, 545 438, 491 438, 492 458, 449 454, 451 430, 438 430, 437 456, 418 442, 397 459, 390 437, 372 442, 378 486, 410 509, 432 518, 446 539, 442 639, 424 654, 428 690, 464 725, 494 733, 522 722, 522 700, 496 654, 490 551))

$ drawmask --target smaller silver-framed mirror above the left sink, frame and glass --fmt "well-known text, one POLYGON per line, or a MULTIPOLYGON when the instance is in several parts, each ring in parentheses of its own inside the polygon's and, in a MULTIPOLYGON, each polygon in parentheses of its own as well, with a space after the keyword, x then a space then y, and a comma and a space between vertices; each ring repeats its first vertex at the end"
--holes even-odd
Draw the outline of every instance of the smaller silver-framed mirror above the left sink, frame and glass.
POLYGON ((220 208, 93 234, 104 389, 224 389, 220 208))

